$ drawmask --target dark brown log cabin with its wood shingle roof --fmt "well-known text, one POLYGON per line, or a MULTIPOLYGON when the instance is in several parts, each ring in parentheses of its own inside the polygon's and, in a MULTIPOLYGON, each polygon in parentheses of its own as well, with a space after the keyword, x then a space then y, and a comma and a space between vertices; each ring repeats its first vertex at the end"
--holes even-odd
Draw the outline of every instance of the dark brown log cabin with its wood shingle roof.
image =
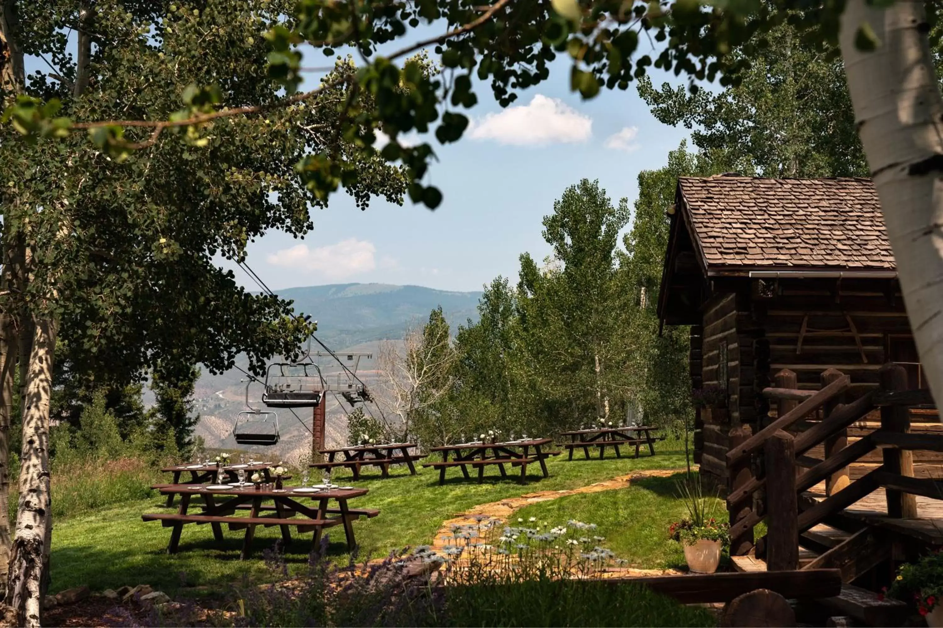
MULTIPOLYGON (((690 326, 693 388, 726 391, 725 409, 695 414, 695 459, 708 484, 726 485, 735 434, 774 415, 761 392, 777 374, 812 390, 835 368, 861 395, 885 362, 898 362, 910 388, 926 387, 869 179, 682 177, 668 211, 658 316, 690 326)), ((934 409, 912 412, 922 412, 915 431, 939 429, 934 409)), ((822 457, 809 454, 810 463, 822 457)))

